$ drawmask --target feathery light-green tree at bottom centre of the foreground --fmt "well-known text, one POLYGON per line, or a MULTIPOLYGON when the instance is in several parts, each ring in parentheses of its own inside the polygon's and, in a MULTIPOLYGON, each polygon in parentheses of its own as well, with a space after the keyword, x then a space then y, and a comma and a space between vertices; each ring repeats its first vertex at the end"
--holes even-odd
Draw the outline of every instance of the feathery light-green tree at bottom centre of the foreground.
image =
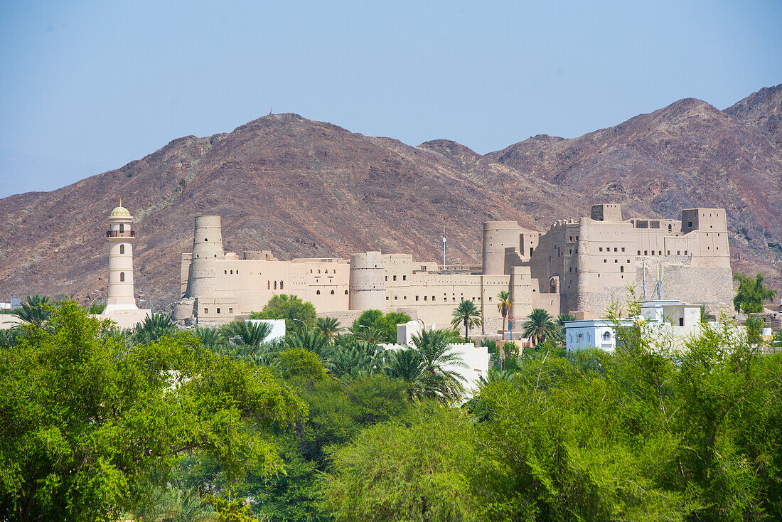
POLYGON ((474 520, 471 432, 461 412, 433 405, 362 431, 335 452, 321 509, 347 521, 474 520))

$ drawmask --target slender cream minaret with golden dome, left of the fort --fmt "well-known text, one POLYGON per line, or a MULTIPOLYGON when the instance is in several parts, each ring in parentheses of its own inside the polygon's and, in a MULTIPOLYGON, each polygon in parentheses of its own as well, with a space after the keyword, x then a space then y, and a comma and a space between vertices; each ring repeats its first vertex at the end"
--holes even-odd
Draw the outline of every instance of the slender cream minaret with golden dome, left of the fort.
POLYGON ((138 310, 133 289, 133 241, 136 232, 131 229, 133 216, 122 206, 109 216, 109 299, 106 310, 138 310))

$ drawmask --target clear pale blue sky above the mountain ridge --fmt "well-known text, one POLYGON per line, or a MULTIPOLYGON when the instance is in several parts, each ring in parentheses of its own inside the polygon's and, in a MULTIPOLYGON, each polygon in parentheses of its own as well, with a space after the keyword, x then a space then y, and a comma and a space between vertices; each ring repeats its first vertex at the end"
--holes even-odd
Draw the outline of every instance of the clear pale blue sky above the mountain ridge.
POLYGON ((0 0, 0 196, 270 106, 479 153, 685 97, 723 109, 782 82, 780 27, 778 1, 0 0))

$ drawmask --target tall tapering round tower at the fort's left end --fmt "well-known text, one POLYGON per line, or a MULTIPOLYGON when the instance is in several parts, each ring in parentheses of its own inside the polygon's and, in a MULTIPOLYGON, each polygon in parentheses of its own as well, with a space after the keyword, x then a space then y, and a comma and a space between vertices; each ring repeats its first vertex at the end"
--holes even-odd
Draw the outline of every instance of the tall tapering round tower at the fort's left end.
POLYGON ((224 257, 220 216, 195 216, 187 297, 213 297, 214 261, 224 257))

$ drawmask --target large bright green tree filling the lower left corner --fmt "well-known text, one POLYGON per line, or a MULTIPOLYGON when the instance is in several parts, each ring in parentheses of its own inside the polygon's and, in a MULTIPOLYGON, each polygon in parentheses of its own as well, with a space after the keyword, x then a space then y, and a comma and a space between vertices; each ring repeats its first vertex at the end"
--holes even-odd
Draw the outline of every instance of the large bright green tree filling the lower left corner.
POLYGON ((0 351, 0 519, 117 520, 196 448, 228 478, 280 470, 271 430, 307 405, 277 377, 188 333, 127 346, 109 325, 61 301, 0 351))

